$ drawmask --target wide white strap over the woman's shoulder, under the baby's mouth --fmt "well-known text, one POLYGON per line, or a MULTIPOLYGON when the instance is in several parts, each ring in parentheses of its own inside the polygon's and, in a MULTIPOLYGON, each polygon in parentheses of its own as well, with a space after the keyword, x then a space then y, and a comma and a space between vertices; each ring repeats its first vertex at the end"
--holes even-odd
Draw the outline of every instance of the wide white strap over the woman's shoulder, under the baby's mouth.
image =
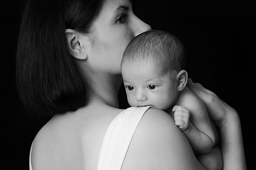
POLYGON ((121 169, 131 138, 148 108, 131 107, 112 120, 103 139, 97 170, 121 169))

